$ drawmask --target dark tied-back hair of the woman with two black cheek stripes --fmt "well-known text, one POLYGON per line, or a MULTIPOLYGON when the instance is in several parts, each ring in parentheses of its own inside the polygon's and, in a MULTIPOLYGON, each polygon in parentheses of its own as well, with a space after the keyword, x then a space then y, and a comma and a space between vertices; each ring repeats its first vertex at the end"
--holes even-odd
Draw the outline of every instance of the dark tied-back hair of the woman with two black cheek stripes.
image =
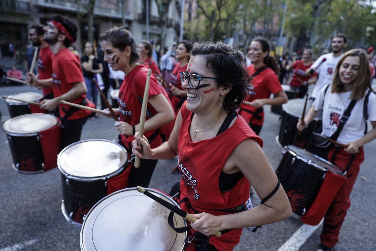
POLYGON ((112 27, 100 34, 99 41, 110 41, 112 46, 123 51, 125 47, 129 46, 132 50, 130 53, 129 62, 133 63, 139 59, 136 50, 136 40, 132 33, 124 27, 112 27))

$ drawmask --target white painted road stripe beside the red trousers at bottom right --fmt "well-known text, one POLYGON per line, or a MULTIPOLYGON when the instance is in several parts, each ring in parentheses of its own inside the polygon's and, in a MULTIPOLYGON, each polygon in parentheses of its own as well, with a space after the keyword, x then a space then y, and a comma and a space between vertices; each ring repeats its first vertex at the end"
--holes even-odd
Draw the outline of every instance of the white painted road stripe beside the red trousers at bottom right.
MULTIPOLYGON (((308 238, 321 226, 324 219, 316 226, 303 224, 277 251, 297 251, 308 240, 308 238)), ((1 250, 0 250, 1 251, 1 250)))

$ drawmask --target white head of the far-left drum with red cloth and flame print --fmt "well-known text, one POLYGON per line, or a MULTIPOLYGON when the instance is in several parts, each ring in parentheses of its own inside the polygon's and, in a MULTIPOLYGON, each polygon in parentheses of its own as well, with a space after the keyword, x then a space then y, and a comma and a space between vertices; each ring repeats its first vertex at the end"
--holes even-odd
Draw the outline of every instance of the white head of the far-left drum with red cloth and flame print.
POLYGON ((5 132, 13 134, 32 134, 49 129, 57 123, 58 119, 53 115, 32 113, 7 120, 3 129, 5 132))

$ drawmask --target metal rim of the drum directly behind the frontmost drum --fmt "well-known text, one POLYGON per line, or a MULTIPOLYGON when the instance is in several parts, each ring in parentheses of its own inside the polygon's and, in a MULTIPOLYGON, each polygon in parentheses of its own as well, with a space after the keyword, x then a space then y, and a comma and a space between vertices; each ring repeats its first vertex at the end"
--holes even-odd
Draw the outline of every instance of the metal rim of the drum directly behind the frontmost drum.
POLYGON ((71 180, 77 180, 77 181, 108 180, 109 178, 112 178, 112 177, 118 175, 119 173, 121 173, 124 170, 124 168, 127 166, 127 163, 128 163, 128 152, 126 151, 126 149, 123 146, 121 146, 120 144, 118 144, 118 143, 116 143, 114 141, 105 140, 105 139, 102 139, 102 138, 91 138, 91 139, 87 139, 87 140, 80 140, 80 141, 74 142, 74 143, 66 146, 64 149, 62 149, 60 151, 60 153, 58 155, 58 161, 57 161, 57 165, 58 165, 58 168, 59 168, 60 172, 66 178, 71 179, 71 180), (114 171, 112 173, 109 173, 109 174, 106 174, 106 175, 101 175, 101 176, 94 176, 94 177, 80 177, 80 176, 69 174, 69 173, 65 172, 64 170, 62 170, 62 168, 59 165, 61 153, 64 152, 70 146, 73 146, 73 145, 76 145, 76 144, 79 144, 79 143, 82 143, 82 142, 86 142, 86 141, 105 141, 105 142, 113 143, 113 144, 116 144, 117 146, 120 146, 121 150, 123 150, 125 152, 126 159, 125 159, 124 164, 118 170, 116 170, 116 171, 114 171))

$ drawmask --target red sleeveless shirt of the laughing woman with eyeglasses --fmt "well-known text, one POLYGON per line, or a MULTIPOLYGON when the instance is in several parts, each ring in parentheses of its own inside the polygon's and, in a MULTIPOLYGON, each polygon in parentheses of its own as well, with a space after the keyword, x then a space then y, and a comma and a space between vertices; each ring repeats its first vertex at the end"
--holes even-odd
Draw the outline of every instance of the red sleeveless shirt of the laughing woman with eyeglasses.
MULTIPOLYGON (((177 160, 182 176, 180 199, 188 198, 191 207, 199 212, 214 215, 228 214, 216 210, 244 204, 249 198, 250 184, 243 176, 233 189, 221 193, 219 175, 223 166, 233 150, 243 140, 253 138, 261 147, 262 140, 250 129, 247 122, 238 116, 235 123, 220 135, 208 140, 191 142, 189 128, 192 112, 187 110, 186 102, 182 105, 181 114, 183 120, 177 146, 177 160)), ((180 207, 188 213, 194 214, 187 203, 180 204, 180 207)), ((242 228, 233 229, 222 234, 221 237, 210 236, 209 243, 221 251, 232 250, 239 243, 242 230, 242 228)))

